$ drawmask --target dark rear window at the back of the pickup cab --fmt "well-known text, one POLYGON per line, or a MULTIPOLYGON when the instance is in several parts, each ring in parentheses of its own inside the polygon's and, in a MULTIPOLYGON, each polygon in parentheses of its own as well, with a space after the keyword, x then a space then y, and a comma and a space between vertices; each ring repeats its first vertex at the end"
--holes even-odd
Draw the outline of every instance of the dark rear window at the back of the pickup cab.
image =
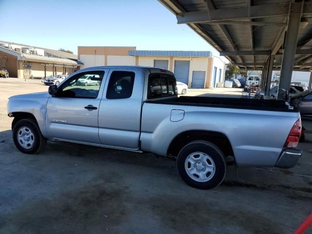
POLYGON ((155 74, 149 77, 148 99, 170 97, 176 94, 176 79, 172 76, 155 74))

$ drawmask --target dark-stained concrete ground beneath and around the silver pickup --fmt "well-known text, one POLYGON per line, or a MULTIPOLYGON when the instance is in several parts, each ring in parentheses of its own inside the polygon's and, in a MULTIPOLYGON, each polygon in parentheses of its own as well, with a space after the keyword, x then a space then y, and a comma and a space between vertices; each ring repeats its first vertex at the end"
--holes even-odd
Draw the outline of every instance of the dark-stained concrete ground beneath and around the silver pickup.
MULTIPOLYGON (((307 140, 293 169, 238 168, 236 180, 229 166, 221 186, 202 191, 179 178, 175 160, 154 154, 56 141, 38 155, 21 154, 7 98, 47 88, 0 78, 0 234, 281 234, 312 212, 311 120, 303 121, 307 140)), ((222 90, 207 93, 237 92, 222 90)))

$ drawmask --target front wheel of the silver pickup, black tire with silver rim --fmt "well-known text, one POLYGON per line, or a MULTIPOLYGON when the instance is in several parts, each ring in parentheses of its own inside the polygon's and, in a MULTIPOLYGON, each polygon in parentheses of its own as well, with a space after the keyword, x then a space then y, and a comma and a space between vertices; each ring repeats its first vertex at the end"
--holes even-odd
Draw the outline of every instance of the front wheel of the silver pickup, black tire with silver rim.
POLYGON ((24 154, 37 154, 40 150, 44 148, 46 145, 47 139, 44 138, 40 132, 39 126, 36 122, 36 120, 32 118, 25 118, 19 120, 13 127, 13 141, 18 148, 18 150, 24 154), (27 131, 28 129, 29 131, 27 131), (28 139, 25 139, 22 137, 23 133, 26 134, 25 137, 29 137, 28 139), (32 133, 32 135, 31 135, 32 133), (20 135, 20 138, 18 137, 20 135), (23 138, 23 139, 21 139, 23 138), (32 139, 29 141, 29 139, 32 139), (23 141, 25 140, 25 141, 23 141), (25 146, 22 146, 22 143, 29 142, 28 145, 25 144, 25 146))

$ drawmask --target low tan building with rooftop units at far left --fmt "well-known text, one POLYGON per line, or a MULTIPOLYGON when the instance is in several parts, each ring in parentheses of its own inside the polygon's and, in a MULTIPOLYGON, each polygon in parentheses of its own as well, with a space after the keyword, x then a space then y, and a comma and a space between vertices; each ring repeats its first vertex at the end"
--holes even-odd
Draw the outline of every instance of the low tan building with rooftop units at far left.
POLYGON ((0 69, 10 77, 44 78, 70 75, 83 65, 77 55, 29 45, 0 42, 0 69))

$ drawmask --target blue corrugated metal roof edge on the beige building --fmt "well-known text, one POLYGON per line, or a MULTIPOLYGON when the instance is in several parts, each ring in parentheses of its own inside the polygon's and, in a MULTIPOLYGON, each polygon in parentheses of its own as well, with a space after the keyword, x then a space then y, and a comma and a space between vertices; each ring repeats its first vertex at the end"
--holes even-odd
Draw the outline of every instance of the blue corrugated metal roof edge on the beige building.
POLYGON ((131 56, 156 57, 211 57, 210 51, 176 51, 176 50, 130 50, 131 56))

